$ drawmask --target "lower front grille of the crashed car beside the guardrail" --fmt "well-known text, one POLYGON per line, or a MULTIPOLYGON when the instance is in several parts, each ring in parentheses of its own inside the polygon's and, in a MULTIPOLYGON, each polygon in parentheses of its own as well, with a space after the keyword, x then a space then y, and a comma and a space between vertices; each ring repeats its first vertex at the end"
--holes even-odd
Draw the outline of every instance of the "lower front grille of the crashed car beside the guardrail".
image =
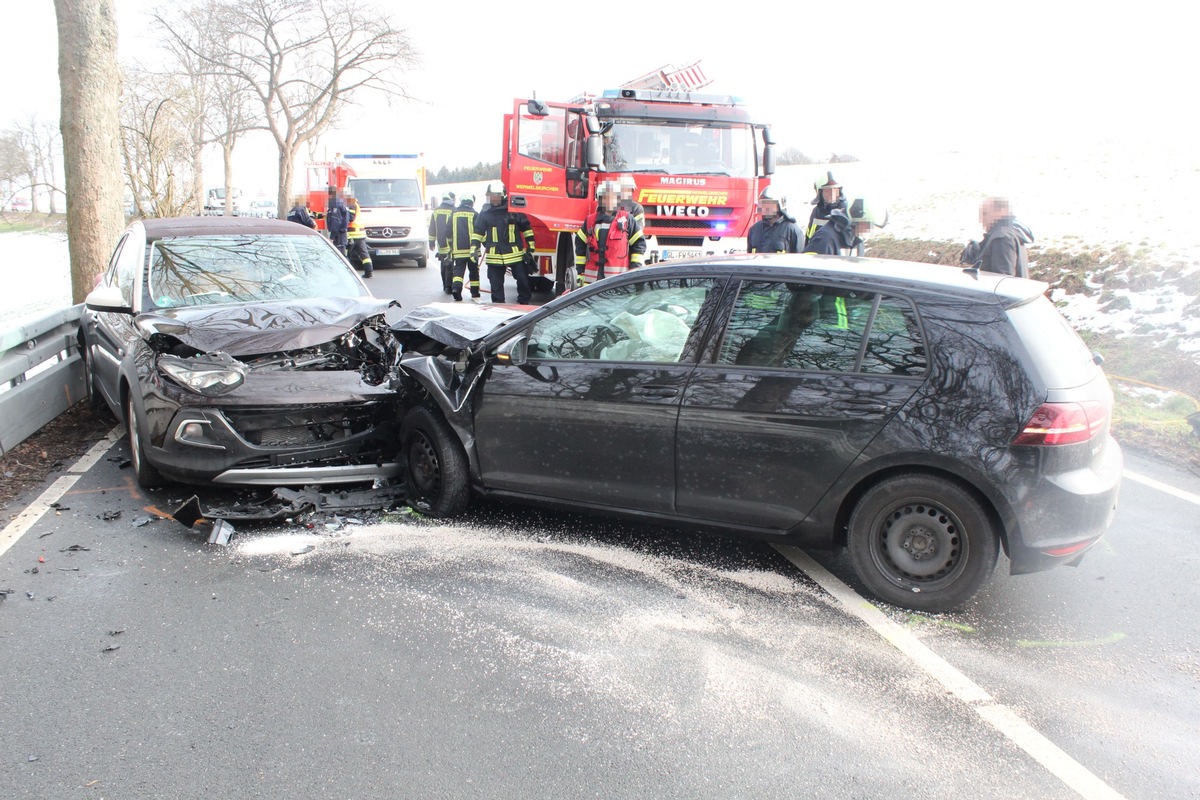
POLYGON ((229 425, 242 439, 259 447, 307 447, 336 444, 384 427, 395 417, 392 403, 314 405, 306 409, 226 409, 229 425))

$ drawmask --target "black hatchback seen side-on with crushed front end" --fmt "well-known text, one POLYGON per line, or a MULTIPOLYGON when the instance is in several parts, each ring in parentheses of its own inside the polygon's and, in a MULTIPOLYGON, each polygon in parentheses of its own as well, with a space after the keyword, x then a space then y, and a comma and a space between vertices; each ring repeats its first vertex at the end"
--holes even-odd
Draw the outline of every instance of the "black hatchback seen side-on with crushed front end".
POLYGON ((546 306, 434 303, 394 330, 412 503, 472 491, 799 546, 943 610, 1003 547, 1076 563, 1122 457, 1096 359, 1045 284, 955 267, 725 257, 546 306))

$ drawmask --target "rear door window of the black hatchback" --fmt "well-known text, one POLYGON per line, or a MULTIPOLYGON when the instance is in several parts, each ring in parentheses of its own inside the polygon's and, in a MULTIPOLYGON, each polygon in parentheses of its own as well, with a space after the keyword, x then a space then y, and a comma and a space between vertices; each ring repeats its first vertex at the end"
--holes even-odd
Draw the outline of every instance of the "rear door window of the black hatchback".
POLYGON ((874 301, 874 294, 851 289, 743 282, 716 361, 742 367, 854 372, 874 301))

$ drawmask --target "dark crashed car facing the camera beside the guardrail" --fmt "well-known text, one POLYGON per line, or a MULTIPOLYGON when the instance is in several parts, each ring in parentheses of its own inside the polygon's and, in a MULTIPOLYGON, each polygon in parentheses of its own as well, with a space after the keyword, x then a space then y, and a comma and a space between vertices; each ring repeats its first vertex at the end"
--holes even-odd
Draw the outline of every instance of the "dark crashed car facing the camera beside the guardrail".
POLYGON ((134 222, 86 299, 89 392, 127 423, 142 486, 397 474, 389 305, 304 225, 134 222))

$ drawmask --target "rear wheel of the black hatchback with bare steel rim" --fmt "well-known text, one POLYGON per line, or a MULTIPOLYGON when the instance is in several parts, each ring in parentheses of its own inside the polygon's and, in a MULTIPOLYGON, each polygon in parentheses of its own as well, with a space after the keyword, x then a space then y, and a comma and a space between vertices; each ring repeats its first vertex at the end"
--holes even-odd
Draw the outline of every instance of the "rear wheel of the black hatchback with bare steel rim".
POLYGON ((1000 539, 986 510, 961 486, 906 475, 877 483, 854 505, 848 547, 871 594, 936 613, 978 591, 996 567, 1000 539))

